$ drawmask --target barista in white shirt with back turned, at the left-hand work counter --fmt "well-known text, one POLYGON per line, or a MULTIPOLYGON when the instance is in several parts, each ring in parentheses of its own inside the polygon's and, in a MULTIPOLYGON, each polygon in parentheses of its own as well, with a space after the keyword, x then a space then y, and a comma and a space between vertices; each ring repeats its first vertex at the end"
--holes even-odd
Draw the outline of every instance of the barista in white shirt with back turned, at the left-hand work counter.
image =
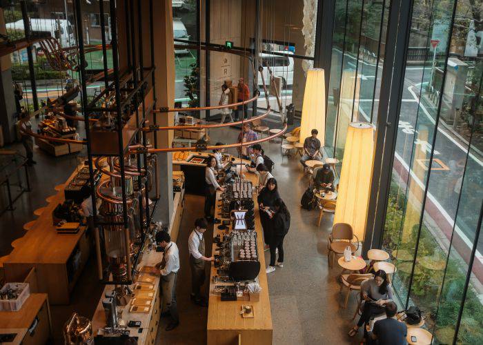
POLYGON ((171 317, 171 322, 166 327, 166 331, 172 331, 179 325, 178 308, 176 304, 176 280, 179 270, 179 251, 175 242, 171 242, 171 237, 166 231, 156 233, 156 243, 164 248, 163 259, 154 273, 161 275, 159 285, 163 295, 161 306, 161 317, 171 317))

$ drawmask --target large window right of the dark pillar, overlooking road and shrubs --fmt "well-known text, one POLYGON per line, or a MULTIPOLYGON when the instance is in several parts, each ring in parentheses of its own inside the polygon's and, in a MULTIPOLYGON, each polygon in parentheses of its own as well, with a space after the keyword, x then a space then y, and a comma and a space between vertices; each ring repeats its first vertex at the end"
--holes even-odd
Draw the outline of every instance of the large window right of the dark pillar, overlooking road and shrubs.
POLYGON ((415 0, 384 226, 398 302, 442 344, 483 342, 481 12, 415 0))

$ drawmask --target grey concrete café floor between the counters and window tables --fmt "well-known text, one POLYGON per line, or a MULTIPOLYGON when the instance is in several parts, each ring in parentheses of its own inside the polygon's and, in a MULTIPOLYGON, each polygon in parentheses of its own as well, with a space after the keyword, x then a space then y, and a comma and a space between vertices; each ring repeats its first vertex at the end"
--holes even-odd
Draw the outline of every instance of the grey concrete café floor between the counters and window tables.
MULTIPOLYGON (((210 136, 213 142, 220 139, 215 131, 210 132, 210 136)), ((224 130, 222 141, 233 142, 236 137, 236 130, 224 130)), ((348 308, 340 306, 343 295, 339 295, 336 278, 341 268, 335 264, 330 269, 327 265, 327 237, 333 215, 325 214, 317 228, 317 211, 300 208, 300 197, 308 185, 308 177, 302 172, 299 157, 282 157, 279 141, 264 143, 263 146, 266 155, 275 161, 273 174, 292 215, 290 231, 284 242, 284 268, 278 268, 268 276, 273 344, 351 344, 351 338, 346 333, 352 324, 355 297, 353 295, 349 299, 348 308)), ((38 148, 35 149, 35 159, 37 166, 30 168, 32 192, 23 194, 14 204, 14 211, 0 216, 0 256, 10 252, 10 242, 23 235, 22 226, 33 219, 33 210, 45 206, 46 197, 55 193, 54 186, 66 181, 77 164, 76 156, 55 159, 40 152, 38 148)), ((190 270, 187 249, 194 220, 202 215, 202 204, 202 197, 186 195, 186 208, 177 241, 181 253, 177 286, 181 324, 175 331, 166 332, 164 327, 167 321, 161 321, 157 344, 206 343, 207 309, 195 306, 189 299, 190 270)), ((211 233, 207 233, 206 238, 210 236, 211 233)), ((267 262, 268 259, 267 252, 267 262)), ((69 306, 51 307, 55 344, 63 344, 61 326, 73 311, 86 317, 91 317, 94 313, 102 291, 94 266, 94 257, 91 257, 72 293, 69 306)), ((354 342, 358 340, 359 338, 354 339, 354 342)))

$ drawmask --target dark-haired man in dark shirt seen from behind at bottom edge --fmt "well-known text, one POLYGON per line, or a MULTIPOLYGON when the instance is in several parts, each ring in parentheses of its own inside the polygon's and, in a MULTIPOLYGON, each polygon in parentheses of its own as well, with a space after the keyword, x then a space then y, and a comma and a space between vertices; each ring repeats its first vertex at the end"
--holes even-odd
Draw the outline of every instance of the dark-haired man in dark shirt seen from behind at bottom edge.
POLYGON ((388 302, 384 306, 387 319, 377 320, 369 337, 375 340, 373 344, 379 345, 404 345, 408 327, 404 322, 397 321, 397 306, 394 302, 388 302))

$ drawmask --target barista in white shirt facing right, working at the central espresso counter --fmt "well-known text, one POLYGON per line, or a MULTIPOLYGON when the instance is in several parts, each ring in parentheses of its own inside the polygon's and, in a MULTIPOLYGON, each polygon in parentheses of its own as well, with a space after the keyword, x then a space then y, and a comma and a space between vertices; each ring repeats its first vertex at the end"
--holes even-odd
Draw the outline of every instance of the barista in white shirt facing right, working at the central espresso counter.
POLYGON ((199 289, 205 282, 205 264, 213 262, 214 257, 205 256, 205 241, 203 234, 208 227, 208 221, 198 218, 195 221, 195 229, 191 232, 188 239, 188 249, 190 251, 191 268, 191 300, 199 306, 208 306, 206 299, 201 298, 199 289))

